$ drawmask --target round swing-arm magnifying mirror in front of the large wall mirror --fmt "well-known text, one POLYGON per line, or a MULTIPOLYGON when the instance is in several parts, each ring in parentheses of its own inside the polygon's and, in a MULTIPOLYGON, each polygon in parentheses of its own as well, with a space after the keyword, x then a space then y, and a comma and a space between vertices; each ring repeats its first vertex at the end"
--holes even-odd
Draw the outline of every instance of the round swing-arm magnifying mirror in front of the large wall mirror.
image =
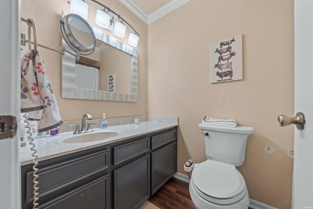
POLYGON ((80 54, 91 54, 96 38, 89 23, 76 14, 68 14, 60 21, 60 32, 67 45, 80 54))

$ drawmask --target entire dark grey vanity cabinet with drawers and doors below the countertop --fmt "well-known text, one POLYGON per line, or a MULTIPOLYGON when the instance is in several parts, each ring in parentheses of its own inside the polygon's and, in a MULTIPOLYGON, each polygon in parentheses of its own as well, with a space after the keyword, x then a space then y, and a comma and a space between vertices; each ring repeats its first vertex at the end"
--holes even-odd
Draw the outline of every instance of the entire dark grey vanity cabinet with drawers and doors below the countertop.
MULTIPOLYGON (((22 209, 33 201, 23 165, 22 209)), ((133 209, 177 171, 177 127, 39 162, 40 209, 133 209)))

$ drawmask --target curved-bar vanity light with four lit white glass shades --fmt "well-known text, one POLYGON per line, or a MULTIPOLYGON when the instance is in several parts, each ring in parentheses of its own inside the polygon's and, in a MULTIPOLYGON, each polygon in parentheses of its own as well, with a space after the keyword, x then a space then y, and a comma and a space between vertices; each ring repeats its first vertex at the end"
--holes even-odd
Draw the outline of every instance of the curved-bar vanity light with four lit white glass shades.
MULTIPOLYGON (((83 5, 83 4, 87 5, 87 3, 85 3, 84 0, 71 0, 70 3, 76 4, 77 1, 79 2, 80 5, 83 5)), ((96 18, 95 18, 96 24, 98 24, 99 26, 101 26, 102 28, 110 32, 113 32, 115 35, 121 38, 125 37, 126 29, 128 26, 131 30, 131 32, 129 33, 129 37, 128 37, 128 44, 131 46, 137 47, 140 35, 137 33, 134 27, 132 27, 132 25, 127 23, 127 21, 124 18, 122 18, 119 14, 114 12, 112 9, 110 9, 110 7, 107 7, 106 5, 104 5, 103 3, 97 0, 90 0, 90 1, 95 2, 96 4, 104 8, 104 9, 97 9, 96 18), (115 21, 115 25, 113 29, 114 18, 116 18, 117 20, 115 21)), ((72 5, 71 5, 71 13, 78 14, 77 12, 73 12, 72 5)), ((78 14, 78 15, 82 16, 81 14, 78 14)), ((87 20, 87 15, 88 15, 88 8, 87 8, 86 18, 84 18, 85 20, 87 20)))

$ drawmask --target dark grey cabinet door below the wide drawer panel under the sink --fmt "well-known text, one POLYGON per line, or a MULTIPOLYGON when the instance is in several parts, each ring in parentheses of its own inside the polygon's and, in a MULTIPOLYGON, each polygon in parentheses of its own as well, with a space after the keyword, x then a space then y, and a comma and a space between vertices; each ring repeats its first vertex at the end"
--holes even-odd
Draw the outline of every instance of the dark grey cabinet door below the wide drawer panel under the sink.
POLYGON ((110 175, 79 186, 48 202, 40 209, 110 209, 110 175))

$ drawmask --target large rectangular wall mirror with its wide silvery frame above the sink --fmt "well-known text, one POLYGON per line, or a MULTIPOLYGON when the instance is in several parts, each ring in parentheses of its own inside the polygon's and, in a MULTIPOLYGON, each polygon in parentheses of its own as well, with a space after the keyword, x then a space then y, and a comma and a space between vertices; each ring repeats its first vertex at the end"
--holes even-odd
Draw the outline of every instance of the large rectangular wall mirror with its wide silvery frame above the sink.
MULTIPOLYGON (((136 102, 137 50, 97 28, 92 30, 96 37, 93 53, 79 60, 68 53, 62 56, 62 97, 136 102)), ((63 39, 62 46, 71 50, 63 39)))

